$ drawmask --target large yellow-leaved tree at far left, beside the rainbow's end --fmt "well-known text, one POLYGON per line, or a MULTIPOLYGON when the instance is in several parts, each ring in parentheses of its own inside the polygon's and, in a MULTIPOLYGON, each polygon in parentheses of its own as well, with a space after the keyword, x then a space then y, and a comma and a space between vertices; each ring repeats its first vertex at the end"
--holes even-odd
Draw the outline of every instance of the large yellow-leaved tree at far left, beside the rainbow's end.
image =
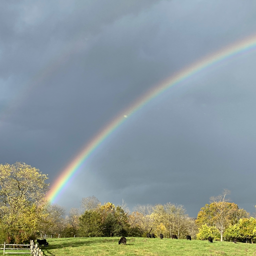
POLYGON ((8 242, 27 242, 44 217, 46 174, 22 162, 0 164, 0 228, 8 242))

